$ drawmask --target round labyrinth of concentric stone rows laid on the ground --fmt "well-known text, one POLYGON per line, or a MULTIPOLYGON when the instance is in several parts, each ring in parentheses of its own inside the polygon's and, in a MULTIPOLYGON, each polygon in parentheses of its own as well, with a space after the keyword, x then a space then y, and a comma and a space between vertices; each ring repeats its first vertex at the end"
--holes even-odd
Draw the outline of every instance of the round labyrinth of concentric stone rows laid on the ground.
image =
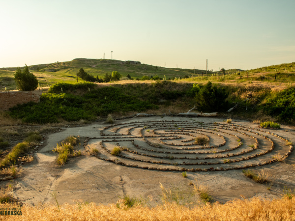
POLYGON ((219 171, 264 166, 288 157, 292 145, 275 130, 238 124, 190 121, 144 121, 105 127, 99 138, 87 138, 95 156, 122 166, 169 171, 219 171), (198 136, 207 145, 195 144, 198 136), (117 146, 121 153, 111 154, 117 146))

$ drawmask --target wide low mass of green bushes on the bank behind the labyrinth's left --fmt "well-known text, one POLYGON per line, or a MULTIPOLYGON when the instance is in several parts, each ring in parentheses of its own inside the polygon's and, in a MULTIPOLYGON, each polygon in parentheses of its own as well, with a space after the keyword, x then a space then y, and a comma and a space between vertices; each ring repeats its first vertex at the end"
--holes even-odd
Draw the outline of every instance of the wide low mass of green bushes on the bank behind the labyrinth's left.
MULTIPOLYGON (((65 84, 65 87, 67 86, 65 84)), ((135 96, 123 94, 121 88, 102 87, 87 91, 84 95, 42 94, 39 103, 18 105, 10 110, 10 115, 21 118, 23 122, 45 124, 59 122, 59 119, 93 120, 97 116, 106 116, 113 112, 140 112, 157 108, 156 105, 140 101, 135 96)))

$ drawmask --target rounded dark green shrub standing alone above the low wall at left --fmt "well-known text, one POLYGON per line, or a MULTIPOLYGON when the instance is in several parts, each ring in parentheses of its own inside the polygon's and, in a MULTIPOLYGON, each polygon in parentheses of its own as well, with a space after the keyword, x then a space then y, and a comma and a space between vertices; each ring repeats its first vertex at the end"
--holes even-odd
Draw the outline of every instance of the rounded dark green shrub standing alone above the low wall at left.
POLYGON ((14 80, 19 90, 35 90, 38 87, 38 80, 36 76, 29 73, 27 64, 23 71, 20 67, 16 69, 14 80))

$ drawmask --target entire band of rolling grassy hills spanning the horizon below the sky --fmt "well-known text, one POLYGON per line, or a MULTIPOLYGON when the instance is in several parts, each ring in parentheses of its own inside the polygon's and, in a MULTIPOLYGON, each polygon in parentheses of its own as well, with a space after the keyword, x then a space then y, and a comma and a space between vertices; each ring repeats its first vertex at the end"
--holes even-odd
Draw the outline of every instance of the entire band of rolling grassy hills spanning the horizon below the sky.
MULTIPOLYGON (((37 76, 40 86, 50 86, 54 83, 75 83, 76 72, 83 68, 88 74, 94 77, 103 77, 106 73, 111 74, 118 71, 122 76, 129 74, 133 79, 142 78, 144 75, 161 78, 184 78, 181 81, 189 82, 223 82, 223 83, 291 83, 295 81, 295 62, 288 64, 271 65, 252 70, 229 69, 225 72, 225 77, 221 72, 207 72, 198 69, 164 68, 140 62, 124 62, 110 59, 87 59, 75 58, 71 61, 55 62, 50 64, 38 64, 29 66, 29 70, 37 76), (202 73, 204 75, 202 76, 202 73), (248 77, 249 76, 249 77, 248 77), (276 79, 275 79, 276 78, 276 79)), ((13 75, 16 67, 0 68, 0 90, 16 89, 13 75)), ((84 82, 78 79, 79 82, 84 82)))

